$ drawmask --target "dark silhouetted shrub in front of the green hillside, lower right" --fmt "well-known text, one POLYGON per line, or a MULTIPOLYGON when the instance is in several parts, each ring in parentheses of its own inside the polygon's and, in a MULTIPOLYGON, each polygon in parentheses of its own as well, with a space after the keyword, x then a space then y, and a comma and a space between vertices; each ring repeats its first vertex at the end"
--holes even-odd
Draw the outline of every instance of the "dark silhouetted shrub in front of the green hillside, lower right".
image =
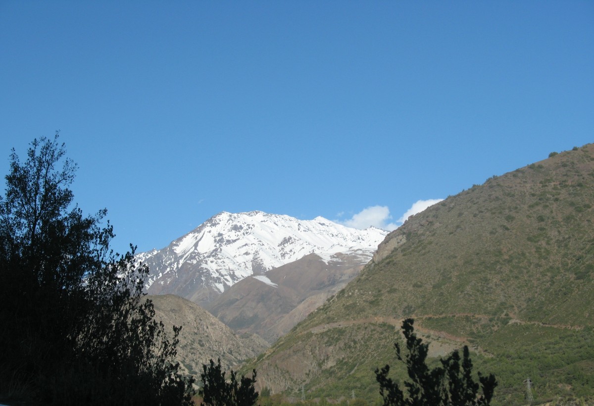
POLYGON ((441 360, 441 367, 429 369, 426 365, 428 344, 414 333, 413 319, 406 319, 402 323, 402 332, 406 339, 407 354, 400 352, 400 345, 394 344, 396 355, 406 365, 410 381, 404 382, 407 395, 400 389, 397 382, 388 378, 390 366, 375 370, 375 378, 380 383, 380 395, 384 405, 489 405, 497 381, 493 374, 482 376, 479 372, 483 395, 478 396, 479 384, 472 378, 472 361, 470 361, 468 347, 463 348, 462 360, 456 350, 445 360, 441 360), (462 367, 462 370, 460 370, 462 367))

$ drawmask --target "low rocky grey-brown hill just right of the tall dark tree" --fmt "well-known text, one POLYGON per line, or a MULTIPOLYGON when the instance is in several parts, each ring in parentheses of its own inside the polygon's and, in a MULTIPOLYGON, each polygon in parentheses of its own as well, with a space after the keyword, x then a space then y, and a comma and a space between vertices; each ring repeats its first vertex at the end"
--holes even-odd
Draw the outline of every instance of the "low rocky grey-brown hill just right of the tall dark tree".
POLYGON ((238 336, 208 311, 175 295, 148 295, 153 301, 155 319, 171 332, 172 326, 182 326, 179 333, 177 360, 186 373, 200 379, 203 364, 220 358, 229 370, 241 361, 254 357, 268 347, 258 336, 238 336))

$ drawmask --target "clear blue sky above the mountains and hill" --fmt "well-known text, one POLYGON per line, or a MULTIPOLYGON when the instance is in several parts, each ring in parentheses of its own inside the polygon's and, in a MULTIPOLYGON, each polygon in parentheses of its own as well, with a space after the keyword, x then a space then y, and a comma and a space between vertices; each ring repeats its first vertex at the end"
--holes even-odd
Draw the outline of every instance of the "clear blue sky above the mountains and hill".
POLYGON ((2 0, 0 173, 58 129, 118 251, 223 210, 393 223, 594 141, 594 2, 2 0))

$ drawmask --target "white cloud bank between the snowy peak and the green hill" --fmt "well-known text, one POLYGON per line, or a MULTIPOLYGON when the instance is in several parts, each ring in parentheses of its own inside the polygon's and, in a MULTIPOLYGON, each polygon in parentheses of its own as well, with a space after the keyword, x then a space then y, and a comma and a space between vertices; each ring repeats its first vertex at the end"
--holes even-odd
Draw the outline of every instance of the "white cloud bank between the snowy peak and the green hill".
MULTIPOLYGON (((365 229, 369 226, 374 226, 387 231, 392 231, 398 228, 403 222, 406 221, 410 216, 421 213, 427 207, 432 206, 435 203, 441 202, 443 199, 429 199, 429 200, 418 200, 413 203, 410 209, 406 210, 406 213, 402 215, 396 222, 391 222, 392 216, 390 215, 390 209, 388 206, 371 206, 356 213, 350 219, 346 220, 334 220, 335 223, 346 225, 347 227, 353 227, 358 229, 365 229)), ((339 213, 339 217, 343 215, 343 212, 339 213)))

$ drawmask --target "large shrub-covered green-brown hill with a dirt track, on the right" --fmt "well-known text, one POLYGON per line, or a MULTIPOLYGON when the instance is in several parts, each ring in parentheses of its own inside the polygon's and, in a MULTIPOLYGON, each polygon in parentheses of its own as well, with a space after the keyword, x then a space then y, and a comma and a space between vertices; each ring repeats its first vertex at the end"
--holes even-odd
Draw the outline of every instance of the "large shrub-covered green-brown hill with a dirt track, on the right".
MULTIPOLYGON (((429 355, 469 345, 494 404, 594 401, 594 144, 409 218, 349 285, 247 364, 272 392, 375 399, 404 317, 429 355)), ((434 361, 437 362, 438 358, 434 361)))

